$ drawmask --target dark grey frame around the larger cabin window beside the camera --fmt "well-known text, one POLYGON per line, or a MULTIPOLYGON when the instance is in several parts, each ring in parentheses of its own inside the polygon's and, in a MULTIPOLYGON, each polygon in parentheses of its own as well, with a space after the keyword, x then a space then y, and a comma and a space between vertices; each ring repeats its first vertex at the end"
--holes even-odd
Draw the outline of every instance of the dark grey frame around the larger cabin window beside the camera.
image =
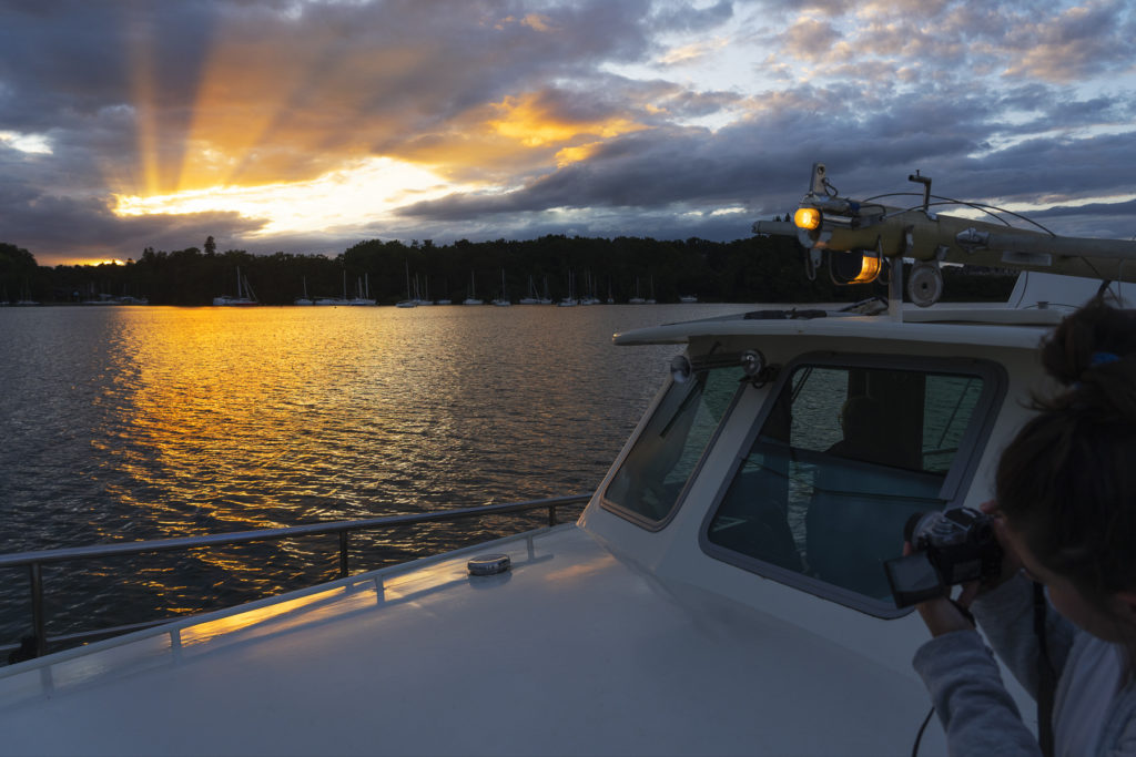
MULTIPOLYGON (((969 490, 969 483, 974 480, 991 431, 997 420, 999 411, 1005 398, 1008 378, 1005 368, 997 362, 980 358, 938 358, 932 355, 895 355, 874 353, 834 353, 834 352, 810 352, 797 355, 780 371, 774 386, 770 388, 761 410, 758 412, 753 424, 745 435, 734 461, 729 465, 726 477, 722 479, 718 491, 715 494, 710 506, 707 508, 705 518, 699 527, 699 547, 707 556, 734 565, 750 573, 755 573, 763 578, 771 579, 778 583, 784 583, 791 588, 801 589, 821 599, 828 599, 836 604, 862 612, 874 617, 892 620, 909 615, 914 608, 896 608, 886 599, 872 599, 866 595, 845 589, 843 587, 828 583, 817 578, 799 573, 796 571, 775 565, 744 553, 735 552, 728 547, 710 541, 710 525, 718 515, 726 494, 729 491, 738 471, 750 456, 750 452, 757 441, 761 429, 765 427, 774 405, 780 397, 785 385, 788 384, 796 371, 804 367, 816 368, 867 368, 878 370, 907 370, 917 371, 925 375, 955 375, 963 377, 977 377, 983 380, 983 389, 975 403, 974 418, 977 422, 971 422, 966 434, 959 440, 959 454, 955 456, 943 478, 938 497, 945 504, 943 510, 950 510, 962 505, 960 497, 964 498, 969 490)), ((736 399, 735 399, 736 402, 736 399)), ((693 476, 692 476, 693 478, 693 476)), ((897 535, 899 536, 899 535, 897 535)))

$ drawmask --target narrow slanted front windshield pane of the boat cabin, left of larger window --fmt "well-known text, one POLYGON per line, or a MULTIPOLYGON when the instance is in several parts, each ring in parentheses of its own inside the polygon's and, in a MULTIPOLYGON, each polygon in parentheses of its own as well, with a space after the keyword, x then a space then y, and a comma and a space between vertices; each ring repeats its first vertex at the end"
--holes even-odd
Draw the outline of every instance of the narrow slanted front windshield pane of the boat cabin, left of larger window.
POLYGON ((605 503, 650 521, 667 518, 742 378, 741 368, 718 368, 671 384, 608 485, 605 503))

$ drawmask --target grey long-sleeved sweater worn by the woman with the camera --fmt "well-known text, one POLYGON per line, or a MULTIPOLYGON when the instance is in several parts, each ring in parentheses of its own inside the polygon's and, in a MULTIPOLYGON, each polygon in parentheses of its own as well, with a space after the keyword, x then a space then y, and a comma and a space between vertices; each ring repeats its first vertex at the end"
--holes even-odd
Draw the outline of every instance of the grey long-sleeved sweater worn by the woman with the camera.
MULTIPOLYGON (((999 657, 1033 696, 1037 692, 1038 644, 1034 634, 1033 589, 1016 578, 975 600, 971 611, 999 657)), ((1136 756, 1136 683, 1114 690, 1116 671, 1084 674, 1088 661, 1102 659, 1102 641, 1072 625, 1052 607, 1046 619, 1050 657, 1058 673, 1053 706, 1058 757, 1136 756), (1078 673, 1078 667, 1080 672, 1078 673), (1112 674, 1109 681, 1102 679, 1112 674), (1108 710, 1096 743, 1062 739, 1062 710, 1099 699, 1108 710)), ((932 639, 916 653, 922 676, 946 732, 952 755, 1041 755, 1033 731, 1021 720, 1002 684, 997 663, 977 631, 954 631, 932 639)), ((1075 733, 1064 726, 1066 735, 1075 733)))

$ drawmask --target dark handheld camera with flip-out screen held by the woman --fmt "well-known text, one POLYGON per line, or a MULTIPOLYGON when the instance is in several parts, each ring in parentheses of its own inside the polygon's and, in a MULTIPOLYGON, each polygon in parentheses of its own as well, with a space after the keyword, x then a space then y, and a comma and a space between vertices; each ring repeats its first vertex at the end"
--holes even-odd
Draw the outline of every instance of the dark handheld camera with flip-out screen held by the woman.
POLYGON ((994 519, 972 507, 917 513, 903 536, 914 552, 884 562, 896 607, 946 596, 952 586, 992 578, 1002 570, 994 519))

